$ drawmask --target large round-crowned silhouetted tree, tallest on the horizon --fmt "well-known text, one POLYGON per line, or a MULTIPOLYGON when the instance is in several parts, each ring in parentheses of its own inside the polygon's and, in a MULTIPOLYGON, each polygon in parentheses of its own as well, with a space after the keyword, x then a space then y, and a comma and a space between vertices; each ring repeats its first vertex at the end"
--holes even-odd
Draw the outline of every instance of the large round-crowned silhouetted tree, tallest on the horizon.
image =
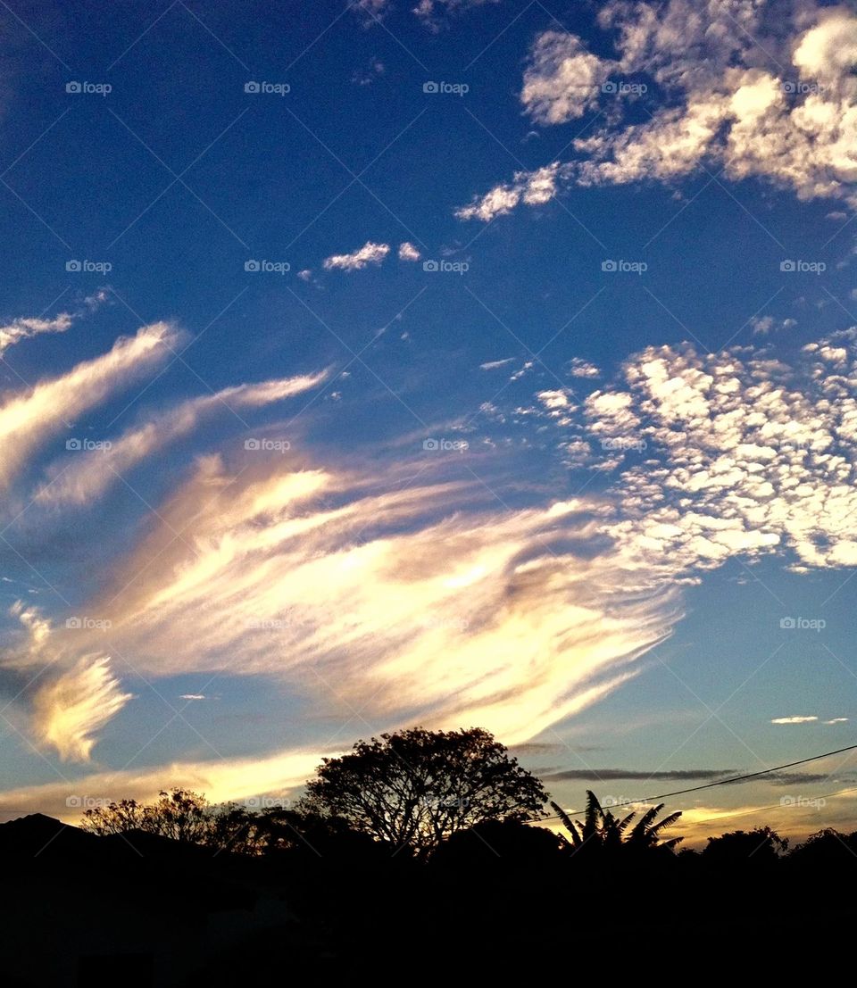
POLYGON ((424 856, 485 820, 538 819, 547 798, 542 783, 487 731, 414 727, 323 759, 298 809, 340 817, 424 856))

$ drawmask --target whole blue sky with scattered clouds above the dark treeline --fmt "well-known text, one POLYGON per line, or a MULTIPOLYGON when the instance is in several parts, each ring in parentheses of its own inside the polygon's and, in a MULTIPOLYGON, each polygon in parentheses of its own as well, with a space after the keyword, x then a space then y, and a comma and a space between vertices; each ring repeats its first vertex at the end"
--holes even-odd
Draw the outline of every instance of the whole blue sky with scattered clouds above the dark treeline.
MULTIPOLYGON (((857 12, 0 10, 0 817, 481 726, 854 743, 857 12)), ((854 829, 857 760, 667 800, 854 829)))

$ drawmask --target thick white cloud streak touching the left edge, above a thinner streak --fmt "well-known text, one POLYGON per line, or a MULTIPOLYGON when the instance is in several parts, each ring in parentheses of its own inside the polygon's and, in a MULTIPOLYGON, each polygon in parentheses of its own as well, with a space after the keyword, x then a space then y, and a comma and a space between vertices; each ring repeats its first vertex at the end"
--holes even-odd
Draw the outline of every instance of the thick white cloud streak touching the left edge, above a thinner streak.
POLYGON ((180 339, 168 323, 144 326, 136 336, 119 339, 109 353, 0 399, 0 488, 8 487, 48 437, 67 429, 67 420, 163 363, 180 339))

